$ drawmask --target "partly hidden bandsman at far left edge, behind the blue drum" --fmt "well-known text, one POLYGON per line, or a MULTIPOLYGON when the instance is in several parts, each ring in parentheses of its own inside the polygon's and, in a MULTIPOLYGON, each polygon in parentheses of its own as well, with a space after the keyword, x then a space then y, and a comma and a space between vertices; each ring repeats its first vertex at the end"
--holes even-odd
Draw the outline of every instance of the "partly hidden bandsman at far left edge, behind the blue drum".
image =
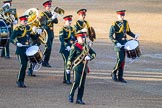
MULTIPOLYGON (((2 6, 2 7, 6 6, 6 5, 8 5, 9 9, 8 9, 8 12, 5 12, 5 14, 6 14, 6 15, 7 15, 7 14, 8 14, 8 15, 12 14, 12 13, 10 12, 10 9, 11 9, 11 6, 12 6, 12 0, 4 0, 4 1, 3 1, 3 6, 2 6)), ((13 15, 13 17, 14 17, 14 21, 13 21, 13 22, 8 22, 7 20, 4 20, 4 21, 6 22, 6 24, 7 24, 7 26, 8 26, 10 35, 11 35, 12 31, 13 31, 13 25, 16 25, 16 24, 18 23, 18 16, 17 16, 17 13, 15 13, 15 14, 13 15)), ((9 36, 10 36, 10 35, 9 35, 9 36)), ((2 49, 1 57, 10 58, 9 43, 10 43, 10 42, 7 42, 6 47, 2 49)))

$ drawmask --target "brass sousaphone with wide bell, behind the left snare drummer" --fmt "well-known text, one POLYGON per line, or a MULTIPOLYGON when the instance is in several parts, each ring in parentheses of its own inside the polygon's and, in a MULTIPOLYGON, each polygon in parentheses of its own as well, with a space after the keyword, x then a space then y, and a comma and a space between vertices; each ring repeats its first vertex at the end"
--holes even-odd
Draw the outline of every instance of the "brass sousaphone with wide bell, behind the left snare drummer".
MULTIPOLYGON (((28 15, 28 22, 27 24, 30 25, 31 27, 36 27, 37 29, 40 29, 40 19, 39 19, 39 11, 37 8, 30 8, 25 11, 24 15, 28 15)), ((43 28, 42 33, 38 37, 38 41, 41 42, 42 44, 46 44, 48 40, 48 34, 47 31, 43 28)))

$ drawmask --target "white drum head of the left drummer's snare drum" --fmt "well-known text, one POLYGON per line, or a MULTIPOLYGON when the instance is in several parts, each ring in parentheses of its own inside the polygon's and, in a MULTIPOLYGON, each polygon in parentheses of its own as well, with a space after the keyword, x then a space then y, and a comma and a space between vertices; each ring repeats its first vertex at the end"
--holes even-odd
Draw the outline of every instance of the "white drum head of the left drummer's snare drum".
POLYGON ((26 55, 33 56, 38 52, 38 50, 39 50, 38 46, 31 46, 26 50, 26 55))

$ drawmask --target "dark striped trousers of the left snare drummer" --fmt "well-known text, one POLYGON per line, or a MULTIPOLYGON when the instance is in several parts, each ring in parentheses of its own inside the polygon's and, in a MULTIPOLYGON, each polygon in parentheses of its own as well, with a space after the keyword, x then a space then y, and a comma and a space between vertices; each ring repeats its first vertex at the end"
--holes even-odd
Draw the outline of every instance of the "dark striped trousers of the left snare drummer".
POLYGON ((28 58, 27 58, 26 54, 20 54, 20 55, 18 55, 18 59, 21 64, 21 68, 20 68, 20 71, 17 76, 17 81, 24 82, 28 58))

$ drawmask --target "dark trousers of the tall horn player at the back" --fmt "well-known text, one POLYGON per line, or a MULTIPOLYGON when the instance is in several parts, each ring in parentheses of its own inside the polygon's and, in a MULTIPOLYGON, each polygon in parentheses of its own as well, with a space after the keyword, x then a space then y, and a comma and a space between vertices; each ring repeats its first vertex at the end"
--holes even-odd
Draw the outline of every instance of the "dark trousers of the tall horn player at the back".
POLYGON ((45 51, 44 51, 44 62, 48 63, 50 60, 50 56, 51 56, 54 33, 53 33, 53 30, 50 30, 49 28, 46 30, 48 33, 48 40, 47 40, 47 44, 45 46, 45 51))

